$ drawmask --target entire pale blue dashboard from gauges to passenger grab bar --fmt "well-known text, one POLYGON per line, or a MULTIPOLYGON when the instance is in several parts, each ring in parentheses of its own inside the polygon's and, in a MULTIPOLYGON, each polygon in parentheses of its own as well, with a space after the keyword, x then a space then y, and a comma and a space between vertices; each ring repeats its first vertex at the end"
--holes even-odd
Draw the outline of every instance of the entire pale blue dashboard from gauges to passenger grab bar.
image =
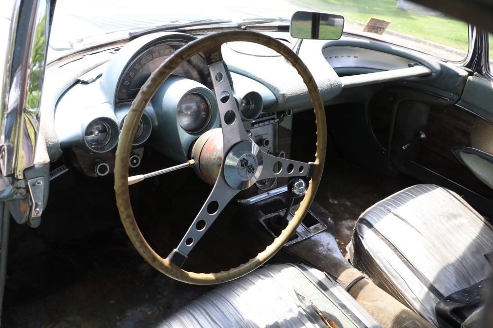
MULTIPOLYGON (((286 39, 285 33, 271 34, 293 49, 298 47, 325 105, 343 98, 345 89, 403 79, 427 84, 435 94, 439 89, 453 90, 440 85, 444 81, 440 77, 457 70, 418 53, 397 47, 389 51, 379 48, 379 43, 354 38, 298 43, 286 39)), ((55 130, 60 149, 70 153, 75 168, 90 177, 112 173, 119 134, 132 100, 166 58, 196 38, 185 33, 152 33, 136 38, 107 51, 109 60, 77 76, 76 83, 57 97, 55 130)), ((313 108, 301 77, 281 56, 258 45, 228 43, 222 53, 249 135, 266 153, 289 157, 292 114, 313 108)), ((219 128, 212 88, 202 54, 184 61, 149 101, 134 136, 129 167, 140 165, 144 145, 177 163, 188 161, 194 142, 219 128)), ((275 188, 275 180, 259 181, 258 192, 275 188)))

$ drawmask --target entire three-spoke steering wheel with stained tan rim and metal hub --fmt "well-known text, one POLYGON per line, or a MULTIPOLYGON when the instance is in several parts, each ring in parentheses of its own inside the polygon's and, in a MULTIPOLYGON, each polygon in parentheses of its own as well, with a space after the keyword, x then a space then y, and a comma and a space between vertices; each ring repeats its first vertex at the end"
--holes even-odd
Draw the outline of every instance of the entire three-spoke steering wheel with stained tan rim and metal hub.
MULTIPOLYGON (((270 259, 292 233, 312 203, 323 170, 327 130, 325 112, 317 84, 301 59, 280 41, 260 33, 229 31, 196 39, 171 55, 157 68, 141 87, 130 107, 120 134, 115 163, 115 194, 121 221, 133 245, 141 256, 160 272, 176 280, 192 284, 216 284, 236 279, 270 259), (281 54, 301 75, 314 105, 317 124, 317 152, 315 162, 303 163, 269 155, 248 137, 241 121, 238 106, 222 60, 221 45, 232 41, 247 41, 267 46, 281 54), (167 257, 159 256, 145 241, 137 226, 128 189, 128 163, 133 136, 142 113, 161 84, 185 60, 203 53, 211 72, 223 135, 223 156, 219 175, 211 194, 178 247, 167 257), (181 268, 191 249, 208 230, 226 204, 241 190, 255 181, 271 177, 311 177, 307 192, 293 219, 271 245, 248 262, 226 271, 195 273, 181 268)), ((197 159, 196 159, 197 160, 197 159)))

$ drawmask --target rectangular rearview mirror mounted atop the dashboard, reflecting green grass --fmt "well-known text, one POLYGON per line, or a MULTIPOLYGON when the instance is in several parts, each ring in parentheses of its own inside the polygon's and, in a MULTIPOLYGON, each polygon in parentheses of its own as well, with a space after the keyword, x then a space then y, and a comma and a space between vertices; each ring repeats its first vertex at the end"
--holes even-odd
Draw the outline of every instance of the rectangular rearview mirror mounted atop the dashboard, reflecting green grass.
POLYGON ((337 40, 344 29, 341 15, 297 11, 291 18, 290 33, 299 39, 337 40))

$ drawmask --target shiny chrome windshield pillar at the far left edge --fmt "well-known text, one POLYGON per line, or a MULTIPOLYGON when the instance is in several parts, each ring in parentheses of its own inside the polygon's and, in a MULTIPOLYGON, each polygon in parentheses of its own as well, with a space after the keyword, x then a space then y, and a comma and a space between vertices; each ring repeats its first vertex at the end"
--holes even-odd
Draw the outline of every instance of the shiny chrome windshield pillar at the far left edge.
POLYGON ((49 1, 16 1, 1 97, 3 177, 23 179, 24 169, 34 164, 48 31, 49 1), (29 20, 27 28, 23 20, 29 20))

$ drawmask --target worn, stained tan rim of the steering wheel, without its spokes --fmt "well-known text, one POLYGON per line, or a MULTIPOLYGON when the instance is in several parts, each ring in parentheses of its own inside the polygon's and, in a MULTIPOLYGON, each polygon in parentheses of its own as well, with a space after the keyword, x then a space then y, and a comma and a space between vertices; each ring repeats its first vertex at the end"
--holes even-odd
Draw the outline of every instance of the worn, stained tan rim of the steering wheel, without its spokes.
POLYGON ((308 211, 308 208, 315 197, 315 193, 320 182, 321 174, 323 171, 323 164, 325 160, 326 152, 326 122, 325 112, 320 93, 318 91, 317 83, 315 82, 312 74, 301 59, 296 54, 283 45, 278 40, 259 33, 252 33, 248 31, 231 31, 224 33, 211 34, 206 37, 197 39, 190 42, 187 46, 176 51, 175 54, 169 57, 156 71, 154 71, 146 83, 142 86, 141 91, 137 95, 136 99, 132 103, 129 114, 125 119, 125 125, 123 127, 118 149, 116 151, 116 163, 115 163, 115 195, 117 198, 117 205, 120 212, 122 223, 134 244, 135 248, 139 251, 141 256, 155 267, 160 272, 180 281, 193 283, 193 284, 215 284, 225 281, 229 281, 238 278, 247 272, 258 267, 263 262, 271 258, 277 251, 279 251, 284 242, 289 236, 296 230, 297 226, 301 222, 304 214, 308 211), (312 180, 309 183, 309 188, 305 198, 301 202, 300 209, 295 213, 293 220, 284 229, 281 235, 274 240, 263 252, 260 252, 256 257, 250 261, 239 265, 238 267, 231 268, 226 271, 217 273, 194 273, 180 269, 175 264, 169 262, 167 259, 161 258, 145 241, 133 215, 132 207, 130 204, 130 197, 128 191, 128 161, 129 153, 132 146, 132 137, 137 130, 137 126, 140 121, 140 117, 145 109, 145 106, 149 102, 150 98, 155 94, 164 80, 178 67, 182 62, 193 56, 198 52, 206 52, 215 47, 220 47, 223 43, 231 41, 247 41, 265 45, 279 54, 291 63, 296 68, 298 74, 303 78, 304 83, 308 88, 308 92, 311 95, 312 103, 315 108, 316 125, 317 125, 317 152, 315 154, 315 172, 312 180))

